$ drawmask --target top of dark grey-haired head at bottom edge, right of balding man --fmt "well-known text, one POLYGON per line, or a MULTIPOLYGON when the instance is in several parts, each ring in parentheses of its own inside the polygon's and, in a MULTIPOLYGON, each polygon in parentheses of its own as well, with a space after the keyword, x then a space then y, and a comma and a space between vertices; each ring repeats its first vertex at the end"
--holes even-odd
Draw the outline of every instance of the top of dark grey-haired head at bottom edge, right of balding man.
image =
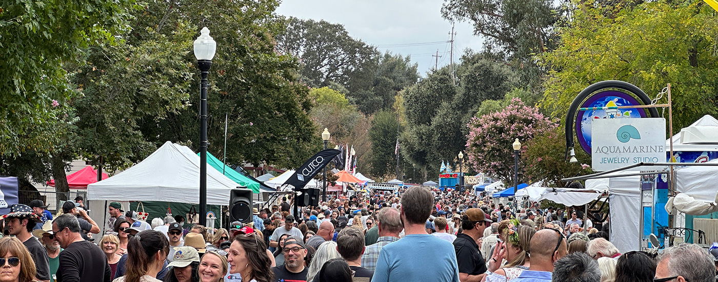
POLYGON ((600 282, 598 262, 586 253, 570 253, 554 263, 551 282, 600 282))

